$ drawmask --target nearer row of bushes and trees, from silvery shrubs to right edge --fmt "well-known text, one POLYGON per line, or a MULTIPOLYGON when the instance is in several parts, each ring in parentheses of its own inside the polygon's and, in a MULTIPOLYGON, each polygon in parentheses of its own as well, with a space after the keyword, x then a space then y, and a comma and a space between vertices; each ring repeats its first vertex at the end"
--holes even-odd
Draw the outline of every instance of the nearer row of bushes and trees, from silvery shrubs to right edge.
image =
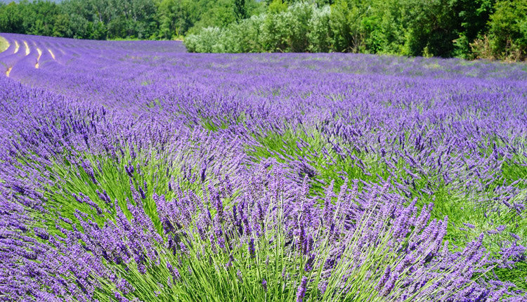
POLYGON ((187 37, 189 51, 360 52, 525 60, 527 4, 494 0, 268 1, 250 22, 187 37), (486 35, 488 39, 483 39, 486 35), (221 36, 221 37, 220 37, 221 36), (240 37, 251 37, 248 43, 240 37), (483 39, 483 40, 482 40, 483 39), (216 43, 216 42, 214 42, 216 43), (212 51, 212 48, 207 48, 212 51), (490 53, 490 55, 486 55, 490 53))

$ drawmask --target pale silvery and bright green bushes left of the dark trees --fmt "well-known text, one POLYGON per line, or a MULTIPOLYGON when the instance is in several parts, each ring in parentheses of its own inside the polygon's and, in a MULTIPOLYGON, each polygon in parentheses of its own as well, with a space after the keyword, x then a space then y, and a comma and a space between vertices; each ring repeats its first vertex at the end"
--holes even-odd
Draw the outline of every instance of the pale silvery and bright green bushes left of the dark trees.
POLYGON ((212 39, 221 42, 216 49, 227 52, 390 52, 385 47, 386 31, 377 25, 377 19, 364 18, 368 9, 366 4, 347 1, 319 7, 304 2, 287 5, 275 0, 267 13, 214 29, 221 38, 211 37, 213 30, 209 29, 189 35, 186 45, 189 51, 197 51, 203 48, 198 44, 210 44, 212 39), (235 45, 239 42, 237 37, 243 36, 252 37, 252 43, 235 45))

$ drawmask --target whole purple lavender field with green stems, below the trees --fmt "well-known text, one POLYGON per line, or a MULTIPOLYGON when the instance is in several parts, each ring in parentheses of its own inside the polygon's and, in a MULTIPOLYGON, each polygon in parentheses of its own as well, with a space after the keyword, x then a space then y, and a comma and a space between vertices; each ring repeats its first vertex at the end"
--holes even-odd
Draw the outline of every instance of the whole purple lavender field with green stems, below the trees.
POLYGON ((0 301, 527 301, 527 65, 1 37, 0 301))

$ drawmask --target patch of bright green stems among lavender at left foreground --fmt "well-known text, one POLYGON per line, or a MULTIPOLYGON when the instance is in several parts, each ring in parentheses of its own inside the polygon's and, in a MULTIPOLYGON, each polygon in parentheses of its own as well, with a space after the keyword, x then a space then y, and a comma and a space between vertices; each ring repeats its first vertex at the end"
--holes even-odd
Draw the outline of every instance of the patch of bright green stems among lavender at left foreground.
MULTIPOLYGON (((152 199, 154 194, 165 195, 170 199, 174 197, 174 192, 169 190, 169 182, 178 178, 181 170, 169 161, 166 154, 159 154, 155 149, 145 150, 134 157, 131 152, 125 149, 122 157, 115 158, 110 155, 90 155, 82 153, 73 160, 77 163, 70 162, 72 159, 63 159, 48 166, 49 175, 55 179, 60 179, 60 185, 46 188, 44 196, 48 198, 46 207, 54 215, 42 215, 35 219, 40 225, 48 229, 54 229, 56 218, 63 216, 65 218, 74 218, 74 213, 78 209, 86 214, 93 215, 94 221, 103 225, 105 221, 115 219, 115 204, 124 209, 124 213, 130 218, 129 211, 126 211, 126 201, 135 204, 134 193, 138 193, 138 188, 144 190, 147 197, 143 201, 145 213, 150 216, 157 230, 161 233, 161 224, 157 215, 155 201, 152 199), (86 165, 80 164, 81 162, 86 165), (132 177, 129 176, 126 169, 134 166, 132 177), (138 169, 141 169, 138 171, 138 169), (93 173, 91 171, 93 171, 93 173), (135 191, 134 191, 135 190, 135 191), (111 203, 101 199, 99 193, 107 192, 111 203), (96 206, 89 205, 86 202, 72 202, 74 196, 80 197, 85 195, 96 206)), ((202 183, 183 183, 183 189, 195 189, 202 183), (184 185, 186 184, 186 185, 184 185)), ((59 223, 63 228, 67 228, 64 223, 59 223)))

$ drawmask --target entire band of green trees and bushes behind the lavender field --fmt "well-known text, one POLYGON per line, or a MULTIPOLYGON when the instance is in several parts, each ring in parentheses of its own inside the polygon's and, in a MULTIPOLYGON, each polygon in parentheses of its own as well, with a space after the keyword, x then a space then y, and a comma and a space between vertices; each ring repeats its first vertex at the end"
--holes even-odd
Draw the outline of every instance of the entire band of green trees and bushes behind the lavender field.
POLYGON ((0 32, 186 37, 196 52, 360 52, 526 60, 525 0, 65 0, 0 4, 0 32))

